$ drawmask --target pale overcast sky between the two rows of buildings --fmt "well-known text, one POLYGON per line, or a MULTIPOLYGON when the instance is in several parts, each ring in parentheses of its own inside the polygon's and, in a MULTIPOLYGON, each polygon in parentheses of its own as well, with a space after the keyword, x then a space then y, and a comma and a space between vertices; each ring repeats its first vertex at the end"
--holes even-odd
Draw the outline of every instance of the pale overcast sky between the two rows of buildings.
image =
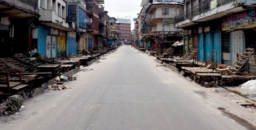
POLYGON ((142 9, 140 3, 142 0, 105 0, 104 10, 108 11, 108 16, 125 18, 130 16, 131 18, 131 30, 134 28, 133 18, 138 17, 138 13, 142 9))

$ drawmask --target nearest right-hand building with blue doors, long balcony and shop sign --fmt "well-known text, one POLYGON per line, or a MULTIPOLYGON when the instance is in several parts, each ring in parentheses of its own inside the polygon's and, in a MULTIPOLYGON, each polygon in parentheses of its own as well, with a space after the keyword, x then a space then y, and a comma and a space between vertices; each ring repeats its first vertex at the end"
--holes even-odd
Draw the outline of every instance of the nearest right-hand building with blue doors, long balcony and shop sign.
POLYGON ((218 64, 231 65, 247 47, 256 49, 255 1, 185 0, 175 18, 184 29, 184 50, 199 49, 199 61, 217 51, 218 64))

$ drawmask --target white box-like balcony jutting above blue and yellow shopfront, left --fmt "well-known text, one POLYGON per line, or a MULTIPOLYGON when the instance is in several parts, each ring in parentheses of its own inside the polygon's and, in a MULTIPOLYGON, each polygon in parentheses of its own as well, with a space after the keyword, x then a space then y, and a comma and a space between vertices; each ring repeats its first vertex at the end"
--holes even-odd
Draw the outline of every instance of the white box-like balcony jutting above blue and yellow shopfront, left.
POLYGON ((68 23, 66 23, 66 19, 58 16, 55 11, 41 9, 39 10, 39 14, 41 14, 39 20, 42 24, 60 30, 71 31, 68 28, 68 23))

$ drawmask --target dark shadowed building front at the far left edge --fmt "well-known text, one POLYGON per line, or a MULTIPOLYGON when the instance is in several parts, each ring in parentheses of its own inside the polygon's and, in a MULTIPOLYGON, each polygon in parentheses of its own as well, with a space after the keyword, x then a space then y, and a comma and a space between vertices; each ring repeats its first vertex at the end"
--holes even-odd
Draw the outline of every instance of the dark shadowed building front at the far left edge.
POLYGON ((0 57, 28 53, 36 44, 31 39, 40 16, 37 6, 36 0, 0 1, 0 57))

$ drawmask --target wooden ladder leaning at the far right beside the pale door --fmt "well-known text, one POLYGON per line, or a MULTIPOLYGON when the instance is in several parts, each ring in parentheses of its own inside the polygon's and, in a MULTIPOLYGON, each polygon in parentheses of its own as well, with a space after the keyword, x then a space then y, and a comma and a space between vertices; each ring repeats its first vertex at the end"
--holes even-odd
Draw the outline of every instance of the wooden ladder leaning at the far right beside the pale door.
POLYGON ((243 54, 240 55, 235 63, 232 64, 231 68, 225 72, 226 75, 234 76, 236 73, 238 73, 241 70, 242 66, 244 66, 244 64, 248 62, 249 57, 251 57, 252 54, 254 54, 254 49, 246 48, 243 54))

